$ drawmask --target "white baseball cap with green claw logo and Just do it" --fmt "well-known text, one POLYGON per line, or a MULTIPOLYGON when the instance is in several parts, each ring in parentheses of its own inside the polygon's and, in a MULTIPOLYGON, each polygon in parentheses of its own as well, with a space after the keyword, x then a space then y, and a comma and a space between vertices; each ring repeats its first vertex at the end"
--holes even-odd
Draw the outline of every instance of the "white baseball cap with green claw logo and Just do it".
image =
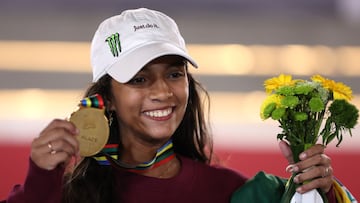
POLYGON ((91 43, 93 82, 105 74, 128 82, 147 63, 164 55, 179 55, 194 67, 178 26, 169 16, 150 9, 126 10, 104 20, 91 43))

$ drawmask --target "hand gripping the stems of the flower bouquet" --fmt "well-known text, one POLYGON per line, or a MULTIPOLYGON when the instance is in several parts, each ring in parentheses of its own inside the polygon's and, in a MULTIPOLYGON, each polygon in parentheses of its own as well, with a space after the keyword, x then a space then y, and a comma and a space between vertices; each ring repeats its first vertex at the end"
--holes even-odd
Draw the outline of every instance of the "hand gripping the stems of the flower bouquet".
POLYGON ((296 189, 299 193, 305 193, 315 188, 320 188, 325 193, 329 192, 332 186, 333 169, 331 159, 324 154, 324 147, 320 144, 314 145, 299 156, 300 161, 294 163, 291 150, 288 144, 280 141, 279 147, 290 165, 286 167, 287 172, 301 172, 295 176, 296 183, 303 183, 296 189))

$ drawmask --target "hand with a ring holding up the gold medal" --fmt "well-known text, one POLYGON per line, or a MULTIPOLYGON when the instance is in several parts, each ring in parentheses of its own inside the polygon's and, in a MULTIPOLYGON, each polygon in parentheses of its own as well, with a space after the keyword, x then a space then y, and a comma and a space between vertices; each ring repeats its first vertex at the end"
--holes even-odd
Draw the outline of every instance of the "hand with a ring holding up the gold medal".
POLYGON ((55 169, 78 154, 78 129, 66 120, 53 120, 31 144, 31 160, 40 168, 55 169))

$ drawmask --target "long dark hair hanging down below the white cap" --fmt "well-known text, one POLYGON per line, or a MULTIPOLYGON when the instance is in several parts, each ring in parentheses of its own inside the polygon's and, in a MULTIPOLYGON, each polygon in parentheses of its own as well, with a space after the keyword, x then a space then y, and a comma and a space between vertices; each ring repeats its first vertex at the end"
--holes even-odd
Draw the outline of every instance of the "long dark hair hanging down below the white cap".
MULTIPOLYGON (((187 76, 189 100, 184 118, 172 136, 174 151, 176 154, 209 164, 213 143, 204 112, 205 106, 209 110, 209 94, 190 73, 187 73, 187 76)), ((100 94, 107 106, 112 99, 111 80, 109 75, 103 76, 87 89, 85 97, 100 94)), ((110 114, 111 112, 106 112, 107 117, 110 114)), ((113 121, 110 129, 110 137, 114 135, 121 136, 116 121, 113 121)), ((113 180, 110 166, 100 166, 93 158, 86 157, 65 176, 62 202, 115 202, 113 180)))

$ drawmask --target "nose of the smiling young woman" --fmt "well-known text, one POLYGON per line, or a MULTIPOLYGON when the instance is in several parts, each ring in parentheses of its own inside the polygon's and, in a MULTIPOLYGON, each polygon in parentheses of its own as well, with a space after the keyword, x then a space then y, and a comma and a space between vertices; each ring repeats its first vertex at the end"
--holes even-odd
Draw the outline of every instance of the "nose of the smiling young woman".
POLYGON ((150 99, 151 100, 166 100, 173 96, 173 92, 169 84, 162 79, 156 80, 151 86, 150 99))

